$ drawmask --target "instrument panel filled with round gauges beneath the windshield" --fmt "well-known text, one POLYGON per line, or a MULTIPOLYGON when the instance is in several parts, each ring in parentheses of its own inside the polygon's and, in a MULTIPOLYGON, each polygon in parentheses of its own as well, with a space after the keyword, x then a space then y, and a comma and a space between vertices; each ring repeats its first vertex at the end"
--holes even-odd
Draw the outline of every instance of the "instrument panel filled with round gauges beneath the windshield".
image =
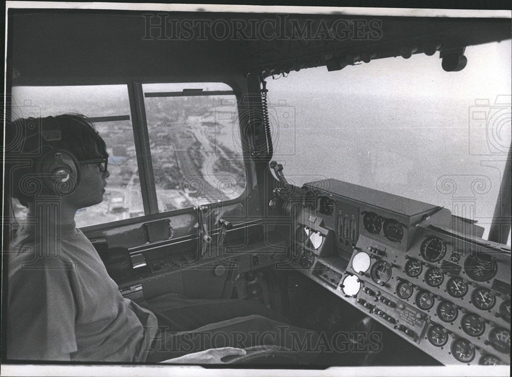
POLYGON ((509 247, 474 224, 461 233, 446 209, 336 180, 309 187, 317 205, 293 219, 302 273, 445 365, 510 364, 509 247))

